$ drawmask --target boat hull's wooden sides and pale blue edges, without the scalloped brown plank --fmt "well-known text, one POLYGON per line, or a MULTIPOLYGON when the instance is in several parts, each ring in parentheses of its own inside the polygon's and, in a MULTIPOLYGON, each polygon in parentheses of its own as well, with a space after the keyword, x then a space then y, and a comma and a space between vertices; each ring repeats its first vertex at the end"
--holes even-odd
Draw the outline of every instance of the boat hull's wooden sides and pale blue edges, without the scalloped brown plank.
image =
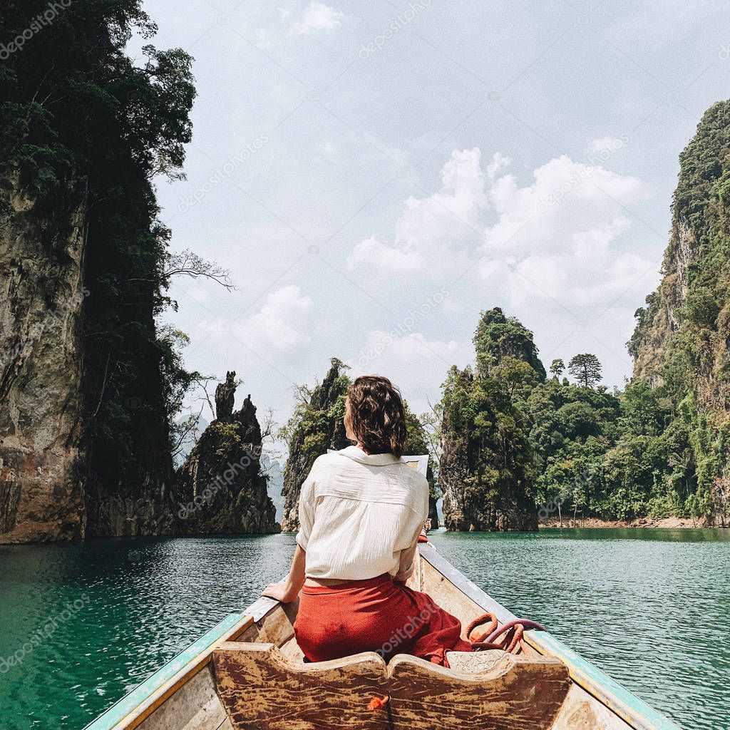
MULTIPOLYGON (((464 624, 484 612, 496 615, 499 623, 515 618, 431 545, 420 545, 420 559, 410 583, 413 588, 429 593, 464 624)), ((293 669, 297 665, 301 667, 301 650, 293 634, 296 609, 296 604, 283 606, 261 598, 245 612, 228 616, 110 707, 86 730, 235 730, 230 719, 233 715, 229 715, 231 707, 226 712, 220 699, 220 670, 217 678, 214 653, 220 648, 240 648, 247 642, 255 642, 271 645, 277 656, 283 657, 293 669)), ((526 658, 558 659, 569 674, 567 694, 561 699, 557 714, 553 712, 549 724, 545 725, 550 730, 679 730, 675 723, 548 632, 526 631, 525 639, 526 658)), ((417 726, 413 721, 408 725, 417 726)))

